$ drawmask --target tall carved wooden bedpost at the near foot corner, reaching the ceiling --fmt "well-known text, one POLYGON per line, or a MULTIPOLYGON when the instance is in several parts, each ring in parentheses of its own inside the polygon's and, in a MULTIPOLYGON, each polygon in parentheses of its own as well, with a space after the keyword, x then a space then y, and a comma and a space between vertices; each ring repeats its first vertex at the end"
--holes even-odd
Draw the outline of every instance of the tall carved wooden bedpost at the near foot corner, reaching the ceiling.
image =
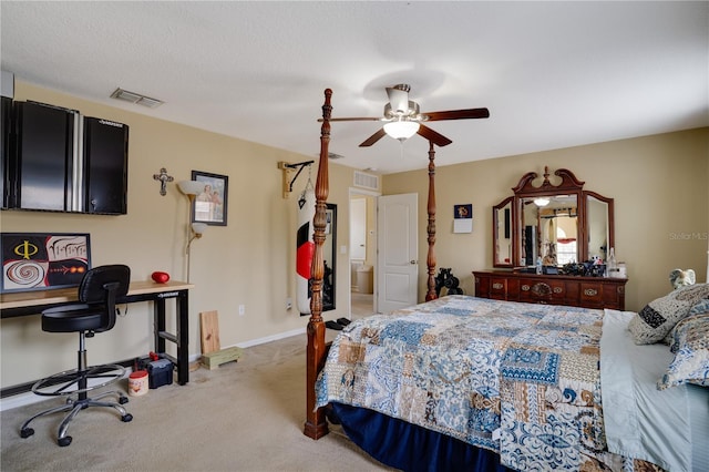
POLYGON ((307 348, 307 412, 304 433, 312 439, 319 439, 328 433, 328 423, 325 411, 316 410, 315 382, 318 372, 325 363, 325 322, 322 322, 322 276, 325 263, 322 258, 322 244, 325 243, 326 209, 329 194, 328 154, 330 144, 330 98, 332 91, 325 90, 325 103, 322 104, 322 126, 320 129, 320 162, 318 164, 318 178, 315 184, 315 217, 312 227, 315 234, 315 254, 312 256, 312 298, 310 299, 310 320, 308 321, 308 348, 307 348))

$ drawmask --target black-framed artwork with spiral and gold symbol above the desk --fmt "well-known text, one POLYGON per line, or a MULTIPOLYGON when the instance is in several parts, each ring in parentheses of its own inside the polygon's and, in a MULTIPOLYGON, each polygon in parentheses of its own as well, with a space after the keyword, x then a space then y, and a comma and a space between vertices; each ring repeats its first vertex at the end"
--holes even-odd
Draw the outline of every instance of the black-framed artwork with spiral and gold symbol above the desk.
POLYGON ((2 233, 0 291, 78 287, 91 268, 89 234, 2 233))

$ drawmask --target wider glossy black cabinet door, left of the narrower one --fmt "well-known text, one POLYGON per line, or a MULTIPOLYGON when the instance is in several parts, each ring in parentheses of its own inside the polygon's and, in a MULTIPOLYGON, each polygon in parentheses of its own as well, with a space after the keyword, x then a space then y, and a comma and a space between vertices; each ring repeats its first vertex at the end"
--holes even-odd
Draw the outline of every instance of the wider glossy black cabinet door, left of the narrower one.
POLYGON ((16 102, 16 206, 70 209, 74 114, 31 102, 16 102))

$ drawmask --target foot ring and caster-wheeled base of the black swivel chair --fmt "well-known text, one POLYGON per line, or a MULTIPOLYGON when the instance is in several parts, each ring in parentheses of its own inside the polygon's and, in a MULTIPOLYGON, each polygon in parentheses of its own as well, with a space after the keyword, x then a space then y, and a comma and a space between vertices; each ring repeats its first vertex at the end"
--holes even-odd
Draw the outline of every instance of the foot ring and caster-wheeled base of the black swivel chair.
POLYGON ((72 438, 66 434, 69 430, 69 423, 79 414, 81 410, 90 407, 104 407, 113 408, 121 414, 121 421, 129 422, 133 420, 133 415, 126 412, 125 408, 121 407, 129 402, 129 399, 123 392, 120 391, 106 391, 99 393, 95 397, 89 398, 88 391, 105 387, 114 383, 123 378, 125 368, 119 365, 105 365, 90 367, 85 370, 66 370, 54 376, 48 377, 34 383, 32 386, 32 392, 44 397, 59 397, 68 396, 65 404, 60 407, 50 408, 49 410, 41 411, 34 414, 32 418, 22 423, 20 428, 20 437, 29 438, 34 434, 34 430, 30 428, 30 422, 35 418, 44 417, 48 414, 69 412, 59 425, 56 433, 56 443, 61 447, 71 444, 72 438), (91 384, 90 384, 91 383, 91 384), (100 401, 101 399, 115 396, 117 402, 114 401, 100 401))

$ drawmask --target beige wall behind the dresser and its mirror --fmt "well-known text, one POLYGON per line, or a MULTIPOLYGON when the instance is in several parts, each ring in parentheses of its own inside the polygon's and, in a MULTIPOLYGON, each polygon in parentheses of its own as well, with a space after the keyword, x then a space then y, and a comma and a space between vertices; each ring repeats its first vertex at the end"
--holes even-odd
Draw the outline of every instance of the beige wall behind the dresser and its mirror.
MULTIPOLYGON (((568 168, 586 189, 615 198, 616 257, 628 266, 626 309, 667 294, 674 268, 693 268, 706 280, 709 129, 701 129, 438 167, 438 267, 453 268, 466 294, 474 293, 471 271, 492 268, 492 206, 512 195, 524 173, 541 175, 545 165, 551 172, 568 168), (453 234, 452 208, 463 203, 473 204, 473 233, 453 234)), ((421 235, 427 185, 427 171, 387 175, 383 182, 384 194, 419 193, 421 235)), ((420 238, 420 260, 427 250, 420 238)), ((424 270, 419 279, 422 298, 424 270)))

